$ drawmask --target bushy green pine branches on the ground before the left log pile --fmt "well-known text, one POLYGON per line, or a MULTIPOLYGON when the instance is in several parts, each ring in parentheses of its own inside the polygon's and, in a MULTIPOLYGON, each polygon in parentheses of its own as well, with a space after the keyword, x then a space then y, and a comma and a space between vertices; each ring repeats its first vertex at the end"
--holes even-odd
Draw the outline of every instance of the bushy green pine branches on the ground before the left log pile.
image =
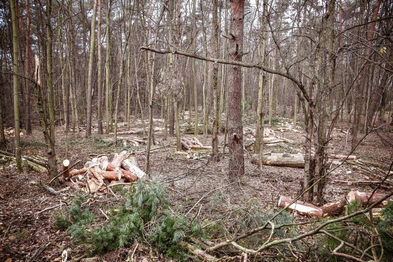
POLYGON ((195 233, 193 223, 189 226, 184 216, 171 213, 162 184, 139 182, 125 197, 123 205, 108 211, 109 220, 102 226, 95 226, 92 212, 83 207, 86 199, 77 197, 67 216, 56 217, 54 227, 66 230, 75 244, 92 255, 125 247, 135 239, 147 240, 168 257, 183 260, 189 255, 181 240, 195 233))

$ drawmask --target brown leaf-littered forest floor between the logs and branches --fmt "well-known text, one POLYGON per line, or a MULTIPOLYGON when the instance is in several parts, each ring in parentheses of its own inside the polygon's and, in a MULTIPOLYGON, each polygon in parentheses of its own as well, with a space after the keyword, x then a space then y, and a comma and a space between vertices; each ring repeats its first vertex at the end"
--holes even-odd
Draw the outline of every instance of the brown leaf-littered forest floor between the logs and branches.
MULTIPOLYGON (((93 138, 85 139, 83 132, 80 136, 65 135, 61 129, 57 127, 56 131, 56 155, 59 168, 64 158, 68 158, 71 164, 81 160, 75 167, 81 168, 92 158, 91 154, 107 154, 111 159, 114 152, 123 149, 121 144, 117 147, 108 147, 107 144, 99 142, 99 137, 110 137, 108 135, 94 135, 93 138)), ((330 143, 335 149, 329 151, 336 154, 346 154, 348 151, 345 150, 350 150, 350 137, 341 130, 342 128, 337 128, 334 131, 330 143)), ((278 133, 281 137, 296 141, 298 149, 301 148, 304 131, 302 133, 278 133)), ((191 138, 193 135, 182 134, 182 136, 191 138)), ((172 144, 176 142, 174 137, 168 137, 167 141, 163 141, 162 138, 160 135, 155 136, 156 145, 153 148, 161 145, 167 146, 150 155, 151 180, 167 185, 170 202, 174 206, 180 205, 184 214, 205 194, 212 191, 200 201, 195 208, 197 210, 191 213, 194 216, 198 212, 198 220, 201 223, 217 214, 222 216, 227 210, 233 210, 233 207, 250 209, 252 206, 254 210, 273 210, 281 195, 294 198, 299 193, 303 181, 303 169, 301 168, 264 166, 261 171, 250 162, 252 152, 246 152, 246 174, 239 178, 239 183, 230 184, 233 179, 227 177, 227 155, 224 155, 220 161, 213 161, 209 158, 187 159, 173 154, 175 148, 172 144), (213 198, 217 198, 217 193, 219 193, 220 203, 212 201, 213 198)), ((199 135, 198 138, 204 145, 211 145, 211 135, 199 135)), ((223 135, 220 135, 219 143, 222 144, 222 142, 223 135)), ((43 135, 39 130, 34 130, 31 136, 22 136, 22 144, 24 155, 46 155, 43 135)), ((392 145, 393 135, 391 133, 374 132, 360 143, 356 152, 390 162, 393 158, 392 145)), ((12 144, 8 146, 6 149, 12 152, 12 144)), ((143 150, 141 147, 138 150, 143 150)), ((136 158, 139 167, 143 169, 145 154, 137 154, 136 158)), ((84 250, 74 245, 66 232, 53 227, 55 216, 64 212, 67 206, 69 207, 75 192, 68 190, 63 191, 60 196, 52 196, 45 189, 31 183, 33 181, 46 182, 47 174, 39 174, 32 170, 25 170, 18 174, 15 164, 10 164, 4 159, 0 161, 0 261, 61 261, 63 250, 67 250, 70 261, 71 259, 83 260, 86 257, 84 250), (61 205, 58 206, 59 204, 61 205), (39 213, 54 206, 56 208, 39 213)), ((327 202, 337 200, 351 190, 372 190, 370 187, 335 182, 337 180, 351 182, 374 180, 370 176, 352 170, 350 165, 338 167, 327 177, 325 200, 327 202)), ((64 188, 60 184, 52 186, 56 190, 64 188)), ((116 202, 121 201, 121 198, 115 198, 107 193, 103 194, 101 201, 92 204, 97 207, 98 212, 95 214, 98 220, 105 221, 99 208, 103 207, 106 201, 116 202)), ((294 216, 293 219, 307 218, 294 216)), ((230 234, 241 230, 238 228, 240 227, 239 221, 243 221, 246 227, 253 227, 256 224, 250 212, 244 217, 239 214, 229 214, 226 221, 228 222, 226 229, 230 234)), ((214 241, 208 244, 224 240, 221 237, 218 234, 212 235, 211 239, 214 241)), ((109 252, 96 260, 125 260, 133 250, 134 245, 131 245, 128 248, 109 252)), ((139 245, 135 252, 135 261, 150 260, 167 261, 168 259, 152 251, 148 246, 139 245)))

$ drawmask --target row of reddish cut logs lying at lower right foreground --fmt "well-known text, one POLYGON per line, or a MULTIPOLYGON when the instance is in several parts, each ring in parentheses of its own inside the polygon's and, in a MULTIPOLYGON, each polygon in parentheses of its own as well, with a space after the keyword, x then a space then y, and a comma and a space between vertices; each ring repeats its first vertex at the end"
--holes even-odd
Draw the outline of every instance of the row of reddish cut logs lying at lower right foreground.
MULTIPOLYGON (((338 201, 325 204, 322 207, 317 207, 315 205, 299 200, 292 203, 293 199, 286 196, 281 196, 278 201, 278 206, 281 208, 287 208, 288 210, 295 211, 296 213, 301 215, 320 218, 342 214, 345 210, 345 206, 348 203, 358 201, 362 206, 370 206, 376 202, 379 202, 380 200, 385 198, 385 196, 386 195, 380 193, 350 191, 346 197, 343 197, 338 201)), ((386 199, 380 204, 378 204, 377 207, 384 207, 392 201, 393 200, 391 199, 386 199)))

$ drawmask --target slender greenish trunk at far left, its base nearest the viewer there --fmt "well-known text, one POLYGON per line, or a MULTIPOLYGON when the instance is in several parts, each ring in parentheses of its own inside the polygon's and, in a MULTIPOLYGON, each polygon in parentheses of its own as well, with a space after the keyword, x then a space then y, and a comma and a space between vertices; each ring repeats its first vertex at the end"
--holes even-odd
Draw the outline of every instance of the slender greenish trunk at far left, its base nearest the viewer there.
POLYGON ((18 30, 17 30, 17 15, 15 0, 10 1, 11 16, 12 16, 12 49, 13 49, 13 67, 14 67, 14 119, 15 119, 15 153, 17 160, 18 172, 22 172, 22 156, 21 156, 21 138, 20 138, 20 123, 19 123, 19 76, 18 73, 18 30))

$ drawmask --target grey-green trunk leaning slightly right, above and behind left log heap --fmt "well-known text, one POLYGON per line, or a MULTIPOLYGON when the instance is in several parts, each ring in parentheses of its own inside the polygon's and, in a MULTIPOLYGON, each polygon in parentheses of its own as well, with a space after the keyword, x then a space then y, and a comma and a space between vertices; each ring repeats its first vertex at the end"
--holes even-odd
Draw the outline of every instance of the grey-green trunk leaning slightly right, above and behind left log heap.
POLYGON ((97 14, 97 0, 94 0, 92 15, 92 26, 90 33, 90 53, 89 53, 89 73, 88 73, 88 86, 86 94, 87 106, 87 122, 86 122, 86 137, 92 134, 92 101, 93 101, 93 58, 94 58, 94 44, 96 41, 96 14, 97 14))

